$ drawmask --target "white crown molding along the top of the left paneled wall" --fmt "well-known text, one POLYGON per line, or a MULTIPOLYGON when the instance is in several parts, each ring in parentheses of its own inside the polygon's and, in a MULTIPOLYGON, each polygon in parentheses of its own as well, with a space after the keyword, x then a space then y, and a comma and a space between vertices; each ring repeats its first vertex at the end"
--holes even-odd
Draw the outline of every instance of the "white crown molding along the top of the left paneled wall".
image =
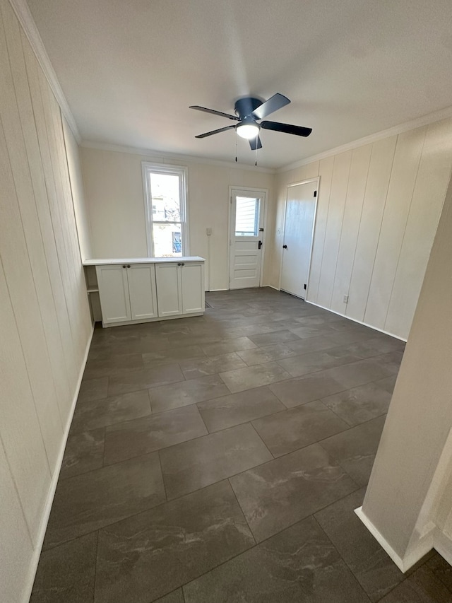
POLYGON ((57 74, 55 73, 52 63, 50 62, 49 55, 44 47, 44 42, 42 42, 42 38, 37 30, 36 23, 32 18, 32 14, 30 13, 30 8, 28 7, 26 0, 9 0, 9 4, 11 4, 14 13, 16 13, 16 17, 18 18, 20 25, 22 25, 23 31, 28 38, 28 42, 30 42, 37 61, 39 62, 42 71, 44 71, 44 76, 46 76, 49 86, 52 88, 55 98, 57 98, 57 103, 61 107, 61 112, 66 118, 66 122, 68 122, 76 141, 78 144, 80 144, 81 136, 80 132, 78 131, 76 120, 72 115, 72 111, 69 108, 69 104, 64 96, 64 92, 61 89, 57 74))

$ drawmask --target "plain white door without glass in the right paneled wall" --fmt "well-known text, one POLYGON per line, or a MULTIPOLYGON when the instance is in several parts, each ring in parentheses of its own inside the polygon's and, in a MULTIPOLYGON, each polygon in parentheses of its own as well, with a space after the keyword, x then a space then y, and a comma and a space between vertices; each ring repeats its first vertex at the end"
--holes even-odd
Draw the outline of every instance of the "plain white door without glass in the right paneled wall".
POLYGON ((314 180, 287 187, 280 288, 303 299, 311 264, 318 185, 314 180))

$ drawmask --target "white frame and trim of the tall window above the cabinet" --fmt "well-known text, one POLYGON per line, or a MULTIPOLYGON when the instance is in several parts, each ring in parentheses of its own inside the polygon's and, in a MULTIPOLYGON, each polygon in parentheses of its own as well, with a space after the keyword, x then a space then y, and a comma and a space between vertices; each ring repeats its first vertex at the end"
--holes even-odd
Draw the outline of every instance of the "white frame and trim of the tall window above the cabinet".
MULTIPOLYGON (((182 255, 190 255, 189 242, 189 216, 188 216, 188 168, 184 165, 168 165, 166 163, 150 163, 149 161, 141 162, 141 173, 143 176, 143 195, 144 195, 144 210, 145 210, 145 226, 146 226, 146 242, 148 244, 148 257, 155 257, 154 242, 153 242, 153 223, 161 223, 160 220, 153 220, 153 201, 150 194, 150 181, 148 178, 149 172, 160 172, 160 174, 178 175, 179 178, 179 199, 181 199, 181 232, 182 232, 182 255)), ((172 222, 169 222, 171 224, 172 222)), ((177 259, 177 257, 174 257, 177 259)))

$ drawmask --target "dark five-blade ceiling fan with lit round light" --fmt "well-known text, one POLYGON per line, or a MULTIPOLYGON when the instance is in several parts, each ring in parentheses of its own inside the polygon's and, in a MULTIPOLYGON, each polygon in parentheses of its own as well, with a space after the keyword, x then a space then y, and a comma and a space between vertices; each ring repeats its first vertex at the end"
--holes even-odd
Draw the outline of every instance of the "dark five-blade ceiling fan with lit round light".
POLYGON ((264 117, 267 117, 267 115, 270 115, 270 113, 278 111, 278 109, 285 107, 285 105, 288 105, 289 103, 290 100, 279 93, 274 94, 264 102, 258 98, 246 96, 244 98, 239 98, 234 104, 234 112, 236 115, 229 115, 228 113, 207 109, 206 107, 200 107, 199 105, 191 105, 191 107, 189 107, 190 109, 213 113, 213 115, 220 115, 221 117, 227 117, 227 119, 233 119, 235 122, 239 122, 234 126, 226 126, 225 128, 212 130, 205 134, 198 134, 195 138, 206 138, 206 136, 212 136, 213 134, 219 134, 226 130, 235 129, 239 136, 249 140, 249 146, 251 146, 253 151, 256 151, 257 148, 262 148, 261 138, 259 136, 261 128, 264 130, 284 132, 285 134, 295 134, 295 136, 309 136, 312 128, 281 124, 280 122, 264 121, 258 123, 258 120, 260 121, 264 117))

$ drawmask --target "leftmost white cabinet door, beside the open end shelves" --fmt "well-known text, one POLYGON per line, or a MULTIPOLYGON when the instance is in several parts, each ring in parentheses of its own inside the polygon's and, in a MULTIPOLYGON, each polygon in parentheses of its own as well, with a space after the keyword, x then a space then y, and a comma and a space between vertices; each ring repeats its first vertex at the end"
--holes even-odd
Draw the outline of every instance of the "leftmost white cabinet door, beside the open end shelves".
POLYGON ((96 266, 102 323, 131 320, 127 268, 122 264, 96 266))

